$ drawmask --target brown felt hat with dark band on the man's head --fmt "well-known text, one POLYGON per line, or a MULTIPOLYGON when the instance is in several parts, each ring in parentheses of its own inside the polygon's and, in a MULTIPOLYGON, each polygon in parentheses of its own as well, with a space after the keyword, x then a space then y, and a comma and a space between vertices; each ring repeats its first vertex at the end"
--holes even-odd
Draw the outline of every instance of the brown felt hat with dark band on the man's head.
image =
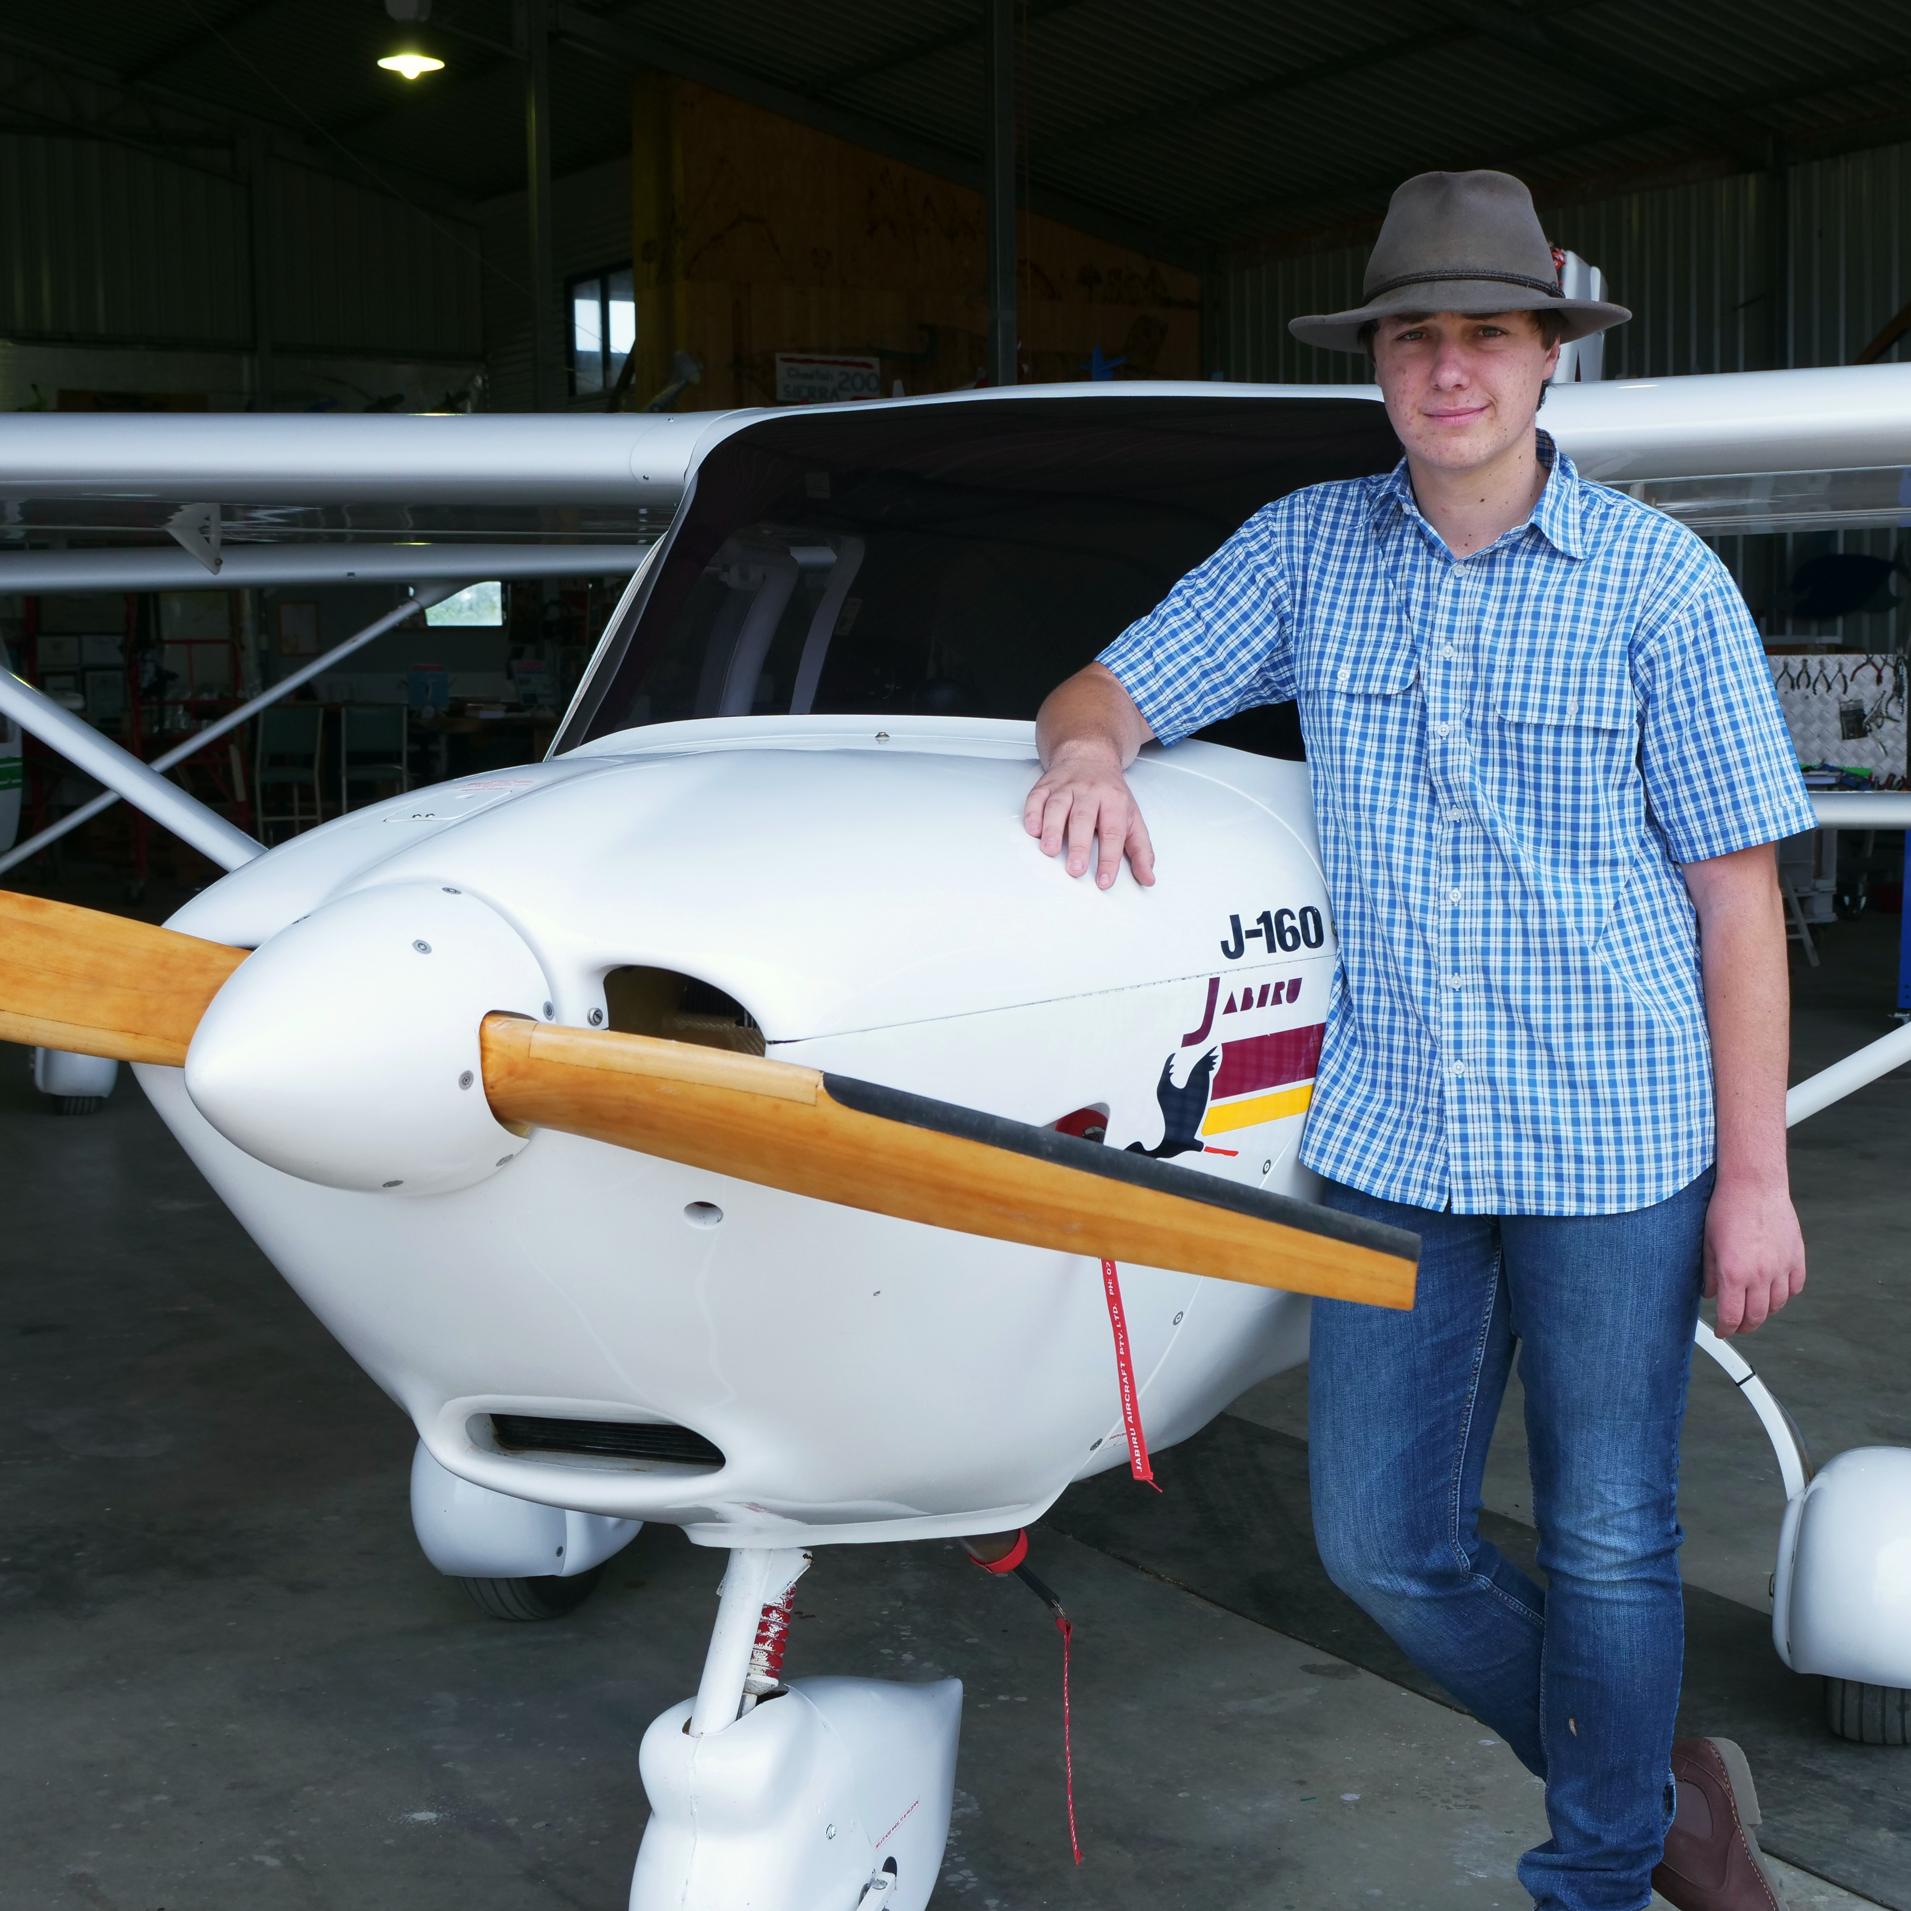
POLYGON ((1361 327, 1397 311, 1557 311, 1565 338, 1632 313, 1567 298, 1533 195, 1510 172, 1422 172, 1387 203, 1355 311, 1288 319, 1303 344, 1364 352, 1361 327))

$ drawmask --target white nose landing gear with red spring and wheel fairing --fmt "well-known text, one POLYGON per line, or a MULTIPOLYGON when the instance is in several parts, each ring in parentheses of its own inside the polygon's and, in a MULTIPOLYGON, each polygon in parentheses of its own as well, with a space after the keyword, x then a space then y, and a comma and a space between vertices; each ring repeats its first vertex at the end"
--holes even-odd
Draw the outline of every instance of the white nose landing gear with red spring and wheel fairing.
POLYGON ((782 1684, 810 1556, 738 1548, 698 1695, 644 1733, 631 1911, 923 1911, 942 1867, 961 1682, 782 1684))

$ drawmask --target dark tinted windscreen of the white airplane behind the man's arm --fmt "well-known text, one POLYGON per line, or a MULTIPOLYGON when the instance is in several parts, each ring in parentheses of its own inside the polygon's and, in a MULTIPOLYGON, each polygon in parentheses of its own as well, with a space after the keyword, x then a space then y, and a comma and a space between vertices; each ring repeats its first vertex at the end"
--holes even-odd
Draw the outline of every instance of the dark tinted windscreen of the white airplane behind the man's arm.
MULTIPOLYGON (((753 424, 699 466, 560 749, 690 717, 1030 719, 1261 505, 1397 459, 1370 399, 1200 388, 753 424)), ((1292 715, 1217 730, 1299 755, 1292 715)))

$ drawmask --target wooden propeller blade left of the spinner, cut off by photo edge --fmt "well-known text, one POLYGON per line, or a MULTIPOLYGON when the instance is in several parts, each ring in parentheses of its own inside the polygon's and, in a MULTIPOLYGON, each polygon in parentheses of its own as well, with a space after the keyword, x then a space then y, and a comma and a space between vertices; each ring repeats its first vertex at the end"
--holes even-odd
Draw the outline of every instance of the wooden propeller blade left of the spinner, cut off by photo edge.
POLYGON ((180 1068, 206 1003, 247 954, 0 891, 0 1041, 180 1068))

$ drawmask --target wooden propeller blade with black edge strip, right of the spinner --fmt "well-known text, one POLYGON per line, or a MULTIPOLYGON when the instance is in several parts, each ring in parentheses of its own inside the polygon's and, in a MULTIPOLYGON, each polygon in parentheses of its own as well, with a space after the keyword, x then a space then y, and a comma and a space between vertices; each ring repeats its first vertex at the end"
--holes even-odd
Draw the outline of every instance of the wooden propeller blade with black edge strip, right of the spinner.
POLYGON ((485 1017, 482 1051, 501 1122, 963 1235, 1414 1303, 1414 1235, 1049 1127, 755 1055, 508 1015, 485 1017))

